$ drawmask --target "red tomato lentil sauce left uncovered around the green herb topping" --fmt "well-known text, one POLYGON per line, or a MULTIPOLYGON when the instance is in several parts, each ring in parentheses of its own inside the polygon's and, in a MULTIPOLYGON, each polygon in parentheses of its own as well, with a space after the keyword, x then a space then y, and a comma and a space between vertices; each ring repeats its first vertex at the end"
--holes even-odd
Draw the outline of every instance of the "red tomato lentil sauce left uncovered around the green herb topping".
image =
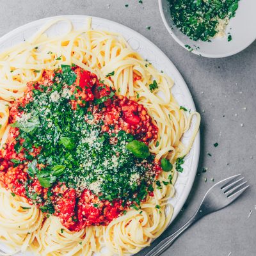
MULTIPOLYGON (((93 120, 90 122, 103 120, 102 132, 111 134, 111 132, 117 133, 122 130, 146 144, 151 140, 156 140, 157 127, 152 123, 152 119, 143 105, 122 95, 113 95, 101 106, 91 104, 92 100, 109 97, 113 90, 100 82, 95 74, 79 67, 72 67, 72 70, 77 75, 75 84, 69 88, 70 93, 75 97, 70 100, 72 109, 75 110, 77 104, 82 107, 88 106, 93 115, 93 120), (79 90, 76 89, 77 86, 79 86, 79 90)), ((20 106, 24 107, 33 100, 33 89, 38 89, 40 84, 49 86, 53 79, 54 72, 45 71, 42 81, 28 83, 28 90, 24 97, 12 102, 9 123, 15 122, 17 116, 22 114, 20 106)), ((140 79, 140 77, 136 76, 134 79, 140 79)), ((43 188, 36 177, 31 177, 28 174, 28 154, 31 156, 40 154, 40 147, 33 147, 33 153, 26 152, 24 148, 17 152, 17 141, 15 140, 17 136, 19 136, 19 128, 11 127, 6 144, 1 149, 0 186, 9 189, 15 195, 27 198, 30 204, 36 202, 38 207, 44 207, 45 200, 50 198, 54 205, 54 215, 60 218, 61 223, 69 230, 78 231, 89 225, 108 225, 128 207, 129 204, 124 204, 121 200, 112 202, 100 200, 88 189, 77 191, 74 188, 67 188, 60 182, 57 182, 51 191, 48 188, 43 188), (15 163, 15 160, 22 161, 22 164, 15 163), (31 200, 31 196, 28 195, 35 196, 31 200)), ((22 141, 19 143, 22 144, 22 141)), ((40 169, 40 166, 38 168, 40 169)), ((161 172, 161 166, 157 161, 154 163, 153 169, 156 174, 161 172)))

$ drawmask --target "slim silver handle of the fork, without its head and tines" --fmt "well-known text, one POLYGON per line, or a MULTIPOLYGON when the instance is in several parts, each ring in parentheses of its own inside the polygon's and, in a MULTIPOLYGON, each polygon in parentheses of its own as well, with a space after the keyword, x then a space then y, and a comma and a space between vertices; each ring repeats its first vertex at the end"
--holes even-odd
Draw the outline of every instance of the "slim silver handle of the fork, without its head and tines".
POLYGON ((193 225, 196 221, 198 221, 200 218, 202 218, 202 214, 200 214, 200 211, 197 211, 195 215, 179 230, 177 230, 172 235, 166 237, 161 241, 159 244, 157 244, 152 250, 150 250, 145 256, 159 256, 161 253, 163 253, 169 246, 173 244, 175 239, 180 236, 185 230, 187 230, 191 225, 193 225))

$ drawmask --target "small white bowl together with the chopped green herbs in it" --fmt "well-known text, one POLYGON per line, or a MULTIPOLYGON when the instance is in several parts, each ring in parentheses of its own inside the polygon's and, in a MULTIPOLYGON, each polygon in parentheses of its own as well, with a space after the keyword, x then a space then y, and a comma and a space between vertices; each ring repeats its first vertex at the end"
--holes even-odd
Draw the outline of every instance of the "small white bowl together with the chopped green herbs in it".
POLYGON ((222 58, 256 39, 255 0, 159 0, 170 35, 189 52, 222 58))

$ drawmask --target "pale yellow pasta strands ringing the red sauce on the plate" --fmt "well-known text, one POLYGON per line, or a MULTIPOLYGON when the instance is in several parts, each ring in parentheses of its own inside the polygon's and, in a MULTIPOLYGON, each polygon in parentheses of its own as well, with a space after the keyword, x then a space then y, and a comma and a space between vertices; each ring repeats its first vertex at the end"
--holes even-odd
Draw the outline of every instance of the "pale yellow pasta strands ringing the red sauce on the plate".
POLYGON ((26 250, 45 256, 134 254, 149 246, 172 218, 168 198, 175 194, 176 169, 181 168, 182 158, 192 147, 200 115, 195 112, 187 116, 186 109, 180 108, 173 98, 172 79, 132 51, 119 34, 92 29, 90 20, 87 29, 74 31, 65 20, 70 28, 65 35, 47 37, 45 31, 59 21, 50 22, 28 42, 0 54, 1 147, 6 145, 12 131, 9 111, 13 102, 24 97, 27 84, 40 83, 45 72, 74 65, 95 74, 97 81, 104 81, 107 88, 113 88, 116 99, 127 97, 147 109, 158 131, 157 140, 147 142, 150 154, 158 160, 168 160, 173 168, 159 173, 153 183, 154 191, 141 202, 140 209, 128 207, 126 214, 113 218, 108 225, 88 225, 76 231, 64 227, 56 216, 47 216, 24 197, 13 196, 10 189, 1 188, 0 239, 12 249, 11 254, 26 250), (195 129, 185 147, 181 138, 193 116, 196 116, 195 129))

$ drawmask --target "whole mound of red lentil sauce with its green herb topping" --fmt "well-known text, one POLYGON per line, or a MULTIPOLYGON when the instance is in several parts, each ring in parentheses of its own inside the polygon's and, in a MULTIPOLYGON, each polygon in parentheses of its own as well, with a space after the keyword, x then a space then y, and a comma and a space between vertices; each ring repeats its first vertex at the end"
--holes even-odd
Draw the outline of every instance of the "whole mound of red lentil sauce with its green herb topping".
POLYGON ((172 170, 149 152, 157 127, 147 109, 76 65, 29 82, 9 123, 0 185, 69 230, 108 225, 137 209, 153 195, 157 175, 172 170))

